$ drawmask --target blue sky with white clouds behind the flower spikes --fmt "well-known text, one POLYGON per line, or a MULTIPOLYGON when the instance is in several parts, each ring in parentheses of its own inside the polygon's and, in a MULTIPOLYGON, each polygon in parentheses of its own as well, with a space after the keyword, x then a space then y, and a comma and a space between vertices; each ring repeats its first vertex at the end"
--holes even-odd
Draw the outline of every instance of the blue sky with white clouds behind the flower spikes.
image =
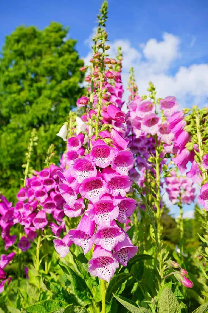
MULTIPOLYGON (((77 50, 88 62, 89 38, 97 26, 96 15, 101 3, 95 0, 3 1, 0 47, 5 36, 19 25, 43 29, 51 21, 57 21, 70 26, 70 37, 78 40, 77 50)), ((141 94, 151 80, 159 96, 175 95, 181 107, 208 105, 207 0, 109 0, 108 3, 106 26, 111 54, 115 54, 118 44, 122 46, 124 86, 128 70, 134 66, 141 94)))

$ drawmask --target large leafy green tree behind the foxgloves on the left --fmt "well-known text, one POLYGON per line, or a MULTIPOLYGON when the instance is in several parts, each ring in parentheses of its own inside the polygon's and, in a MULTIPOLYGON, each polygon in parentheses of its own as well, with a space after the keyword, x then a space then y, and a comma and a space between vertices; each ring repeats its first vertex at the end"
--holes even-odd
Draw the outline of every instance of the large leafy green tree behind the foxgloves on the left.
POLYGON ((64 149, 56 133, 82 95, 84 78, 76 40, 67 33, 52 22, 43 31, 20 26, 6 37, 0 58, 0 191, 10 200, 20 185, 32 128, 39 138, 36 170, 51 143, 59 155, 64 149))

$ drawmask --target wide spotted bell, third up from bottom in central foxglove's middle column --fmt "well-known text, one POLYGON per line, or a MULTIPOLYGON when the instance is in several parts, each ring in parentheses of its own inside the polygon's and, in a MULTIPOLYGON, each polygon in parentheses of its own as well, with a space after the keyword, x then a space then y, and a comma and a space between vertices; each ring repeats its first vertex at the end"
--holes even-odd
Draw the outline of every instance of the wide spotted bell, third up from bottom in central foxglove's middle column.
POLYGON ((106 227, 118 217, 119 208, 112 200, 100 200, 97 203, 89 203, 86 214, 100 227, 106 227))

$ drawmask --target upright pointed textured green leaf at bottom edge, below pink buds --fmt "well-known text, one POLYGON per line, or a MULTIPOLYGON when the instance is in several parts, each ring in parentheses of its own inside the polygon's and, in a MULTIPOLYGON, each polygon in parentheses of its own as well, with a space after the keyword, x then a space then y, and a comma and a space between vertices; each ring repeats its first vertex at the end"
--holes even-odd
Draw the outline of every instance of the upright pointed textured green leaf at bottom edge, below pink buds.
POLYGON ((158 313, 181 313, 180 305, 169 287, 161 293, 158 313))

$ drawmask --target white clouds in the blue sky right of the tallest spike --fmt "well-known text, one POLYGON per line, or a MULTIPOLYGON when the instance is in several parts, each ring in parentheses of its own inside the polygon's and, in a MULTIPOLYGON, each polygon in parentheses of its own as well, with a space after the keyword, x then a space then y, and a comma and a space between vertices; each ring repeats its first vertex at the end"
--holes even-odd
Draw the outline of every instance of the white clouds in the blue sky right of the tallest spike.
MULTIPOLYGON (((89 39, 87 42, 90 42, 89 39)), ((170 33, 164 33, 162 41, 151 38, 145 44, 140 43, 138 49, 132 46, 129 39, 111 42, 111 57, 115 57, 118 45, 123 49, 124 100, 128 98, 128 72, 133 66, 140 95, 147 94, 148 83, 152 81, 158 97, 174 95, 181 108, 191 107, 193 104, 204 106, 208 95, 208 64, 192 64, 188 67, 181 65, 177 69, 174 68, 174 73, 170 74, 174 61, 177 60, 178 64, 183 56, 180 44, 180 38, 170 33)), ((85 57, 87 64, 90 58, 91 52, 85 57)))

